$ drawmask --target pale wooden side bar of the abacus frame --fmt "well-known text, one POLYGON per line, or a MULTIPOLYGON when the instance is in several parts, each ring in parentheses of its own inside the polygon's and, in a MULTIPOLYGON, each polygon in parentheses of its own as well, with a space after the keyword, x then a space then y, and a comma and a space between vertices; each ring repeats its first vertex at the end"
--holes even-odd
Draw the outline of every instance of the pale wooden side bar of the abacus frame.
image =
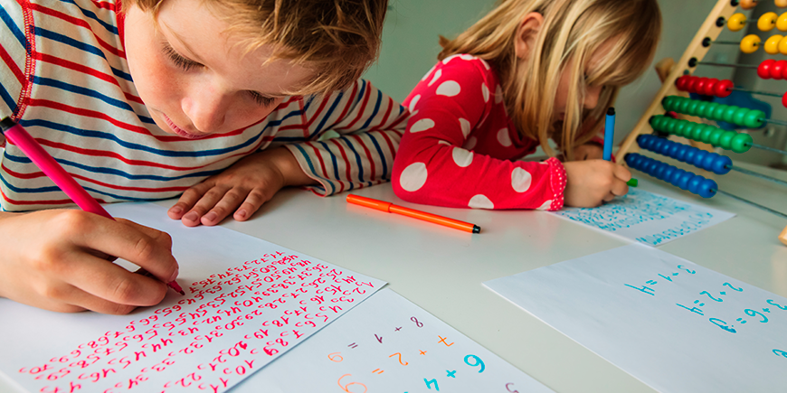
MULTIPOLYGON (((616 155, 619 157, 621 164, 625 164, 623 157, 625 157, 626 154, 640 151, 640 146, 637 145, 637 136, 650 134, 652 132, 650 117, 664 113, 664 109, 661 106, 661 100, 667 96, 684 95, 684 93, 679 91, 675 86, 675 80, 683 76, 686 71, 688 71, 688 74, 694 73, 697 65, 691 67, 689 62, 702 61, 711 47, 711 45, 704 46, 702 42, 706 38, 716 40, 718 35, 725 29, 726 21, 732 14, 735 14, 738 4, 739 2, 737 0, 718 0, 716 6, 714 6, 710 14, 707 15, 705 23, 702 23, 694 39, 688 44, 686 51, 683 52, 683 56, 680 57, 680 61, 672 67, 669 75, 664 79, 661 89, 656 93, 656 97, 653 98, 653 101, 650 102, 650 107, 642 114, 640 121, 637 122, 631 134, 626 136, 626 139, 621 144, 621 148, 618 149, 616 155)), ((782 233, 779 235, 779 240, 782 241, 784 245, 787 245, 787 227, 782 230, 782 233)))

